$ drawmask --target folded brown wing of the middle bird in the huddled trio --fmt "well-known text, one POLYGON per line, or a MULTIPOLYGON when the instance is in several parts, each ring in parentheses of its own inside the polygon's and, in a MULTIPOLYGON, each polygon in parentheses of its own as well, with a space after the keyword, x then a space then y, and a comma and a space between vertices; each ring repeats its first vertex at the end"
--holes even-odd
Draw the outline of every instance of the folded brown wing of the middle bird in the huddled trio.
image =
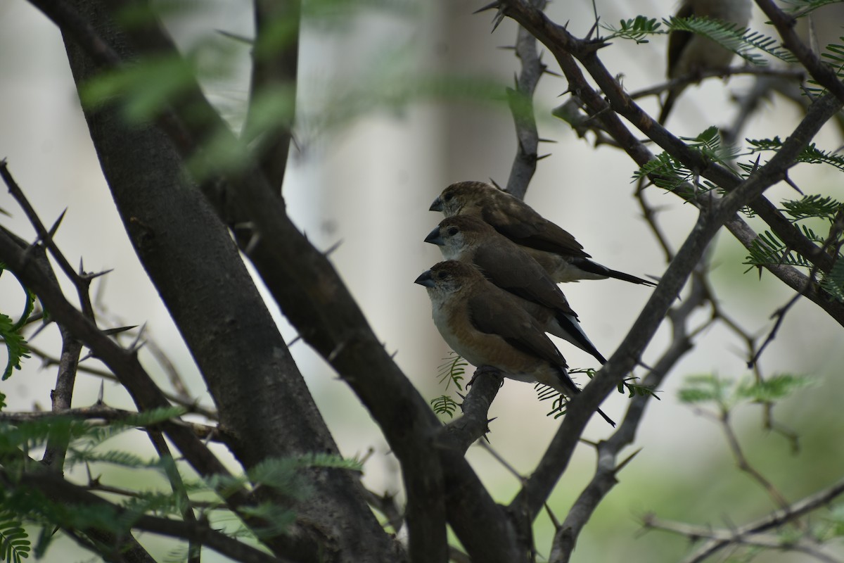
POLYGON ((481 244, 473 253, 473 263, 501 289, 577 317, 548 273, 518 246, 504 241, 481 244))

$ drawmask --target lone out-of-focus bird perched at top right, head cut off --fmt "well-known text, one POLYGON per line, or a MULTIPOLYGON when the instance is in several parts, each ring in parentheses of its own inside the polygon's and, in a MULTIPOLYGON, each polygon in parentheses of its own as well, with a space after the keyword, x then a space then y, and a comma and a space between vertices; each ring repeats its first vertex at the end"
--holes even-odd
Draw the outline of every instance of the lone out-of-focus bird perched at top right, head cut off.
MULTIPOLYGON (((750 0, 684 0, 675 18, 708 18, 736 24, 744 28, 750 20, 750 0)), ((712 68, 725 68, 733 60, 733 51, 725 49, 703 35, 691 31, 671 30, 668 33, 668 78, 700 74, 712 68)), ((663 124, 674 108, 679 95, 689 84, 668 89, 658 122, 663 124)))

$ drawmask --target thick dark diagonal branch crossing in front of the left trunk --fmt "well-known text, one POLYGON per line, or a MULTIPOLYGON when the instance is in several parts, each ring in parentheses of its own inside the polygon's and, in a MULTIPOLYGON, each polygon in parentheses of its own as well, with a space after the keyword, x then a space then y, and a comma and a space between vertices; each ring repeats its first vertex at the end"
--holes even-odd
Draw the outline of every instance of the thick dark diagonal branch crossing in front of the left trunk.
MULTIPOLYGON (((57 8, 52 0, 32 0, 32 3, 73 35, 98 64, 106 68, 119 66, 120 57, 104 46, 89 26, 66 18, 66 10, 58 9, 61 7, 57 8)), ((197 148, 203 146, 212 133, 215 141, 232 149, 238 146, 225 127, 217 127, 219 122, 219 116, 198 87, 185 95, 180 106, 163 110, 158 120, 186 160, 197 156, 197 148), (202 116, 208 121, 197 124, 193 120, 180 119, 179 112, 187 107, 192 116, 202 116)), ((208 170, 214 170, 214 167, 208 170)), ((218 176, 214 182, 203 184, 203 189, 222 218, 227 221, 239 218, 251 226, 249 232, 239 231, 241 248, 252 259, 302 338, 349 383, 385 432, 392 452, 402 463, 408 491, 411 552, 420 557, 435 552, 437 556, 440 552, 445 556, 442 469, 434 449, 438 422, 427 403, 371 332, 327 258, 289 221, 283 200, 268 189, 267 182, 247 155, 244 155, 240 172, 218 176), (385 400, 385 397, 389 399, 385 400)), ((453 482, 451 490, 459 493, 448 499, 450 517, 472 522, 470 528, 456 528, 458 535, 474 528, 505 530, 508 524, 503 512, 491 502, 468 463, 462 457, 458 459, 447 454, 444 454, 443 463, 446 479, 453 482), (468 502, 466 495, 474 495, 479 501, 468 502), (479 506, 483 512, 474 510, 472 521, 462 516, 479 506)), ((490 560, 506 561, 512 560, 507 559, 511 554, 506 546, 510 538, 511 534, 497 533, 484 538, 483 543, 464 540, 464 544, 467 549, 470 544, 476 544, 492 555, 498 554, 490 560)))

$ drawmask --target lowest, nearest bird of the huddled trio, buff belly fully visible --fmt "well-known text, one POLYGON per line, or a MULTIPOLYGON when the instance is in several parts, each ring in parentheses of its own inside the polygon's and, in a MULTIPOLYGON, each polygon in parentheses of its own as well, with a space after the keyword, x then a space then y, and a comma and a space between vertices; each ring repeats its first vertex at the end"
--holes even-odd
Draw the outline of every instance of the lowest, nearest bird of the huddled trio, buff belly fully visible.
MULTIPOLYGON (((443 340, 470 364, 493 367, 520 382, 543 383, 565 397, 580 392, 565 358, 536 319, 478 268, 446 260, 414 283, 428 290, 431 316, 443 340)), ((615 426, 601 409, 598 414, 615 426)))

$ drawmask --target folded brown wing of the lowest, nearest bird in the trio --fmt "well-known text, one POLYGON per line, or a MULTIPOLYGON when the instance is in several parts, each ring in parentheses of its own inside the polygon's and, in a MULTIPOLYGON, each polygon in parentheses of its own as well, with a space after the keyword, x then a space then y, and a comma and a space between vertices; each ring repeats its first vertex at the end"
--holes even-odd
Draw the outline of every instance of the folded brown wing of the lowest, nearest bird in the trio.
POLYGON ((490 285, 488 290, 469 297, 466 306, 469 321, 480 332, 500 336, 525 354, 565 367, 560 350, 506 291, 490 285))

